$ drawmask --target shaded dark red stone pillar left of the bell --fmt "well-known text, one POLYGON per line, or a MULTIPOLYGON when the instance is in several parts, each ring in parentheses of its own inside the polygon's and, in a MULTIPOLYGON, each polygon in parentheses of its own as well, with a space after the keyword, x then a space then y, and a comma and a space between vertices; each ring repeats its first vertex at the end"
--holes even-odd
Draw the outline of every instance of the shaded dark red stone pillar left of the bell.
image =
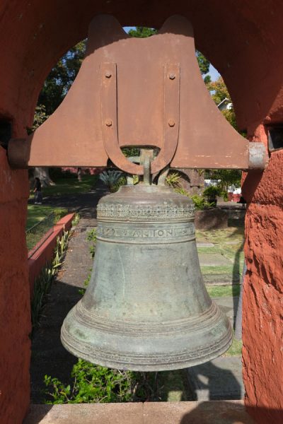
POLYGON ((0 423, 20 424, 30 404, 30 293, 25 245, 28 173, 0 146, 0 423))

